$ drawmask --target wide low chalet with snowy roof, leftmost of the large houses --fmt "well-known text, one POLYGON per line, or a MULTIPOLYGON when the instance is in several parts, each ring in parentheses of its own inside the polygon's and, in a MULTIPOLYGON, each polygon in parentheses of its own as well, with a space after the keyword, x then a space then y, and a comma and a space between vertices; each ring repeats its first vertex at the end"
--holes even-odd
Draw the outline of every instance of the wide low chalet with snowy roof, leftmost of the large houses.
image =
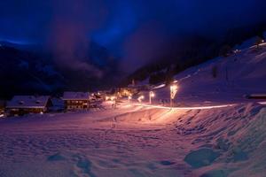
POLYGON ((19 116, 27 113, 44 113, 50 106, 50 96, 13 96, 5 109, 9 115, 19 116))

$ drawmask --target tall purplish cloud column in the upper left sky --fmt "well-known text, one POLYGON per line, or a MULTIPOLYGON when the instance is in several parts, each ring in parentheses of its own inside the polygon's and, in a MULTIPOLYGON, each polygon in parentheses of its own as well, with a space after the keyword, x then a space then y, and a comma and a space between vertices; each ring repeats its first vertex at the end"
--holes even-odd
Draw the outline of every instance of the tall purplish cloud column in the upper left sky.
POLYGON ((46 45, 59 66, 87 71, 100 78, 103 73, 88 61, 91 30, 103 21, 103 7, 96 0, 54 1, 46 45))

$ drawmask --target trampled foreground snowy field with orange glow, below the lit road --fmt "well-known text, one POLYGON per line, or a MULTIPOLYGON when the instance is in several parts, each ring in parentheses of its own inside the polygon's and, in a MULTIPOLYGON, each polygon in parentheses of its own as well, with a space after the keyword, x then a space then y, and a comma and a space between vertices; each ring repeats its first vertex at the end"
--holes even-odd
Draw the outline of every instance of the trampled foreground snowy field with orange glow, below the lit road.
POLYGON ((0 176, 263 176, 266 108, 122 105, 0 121, 0 176))

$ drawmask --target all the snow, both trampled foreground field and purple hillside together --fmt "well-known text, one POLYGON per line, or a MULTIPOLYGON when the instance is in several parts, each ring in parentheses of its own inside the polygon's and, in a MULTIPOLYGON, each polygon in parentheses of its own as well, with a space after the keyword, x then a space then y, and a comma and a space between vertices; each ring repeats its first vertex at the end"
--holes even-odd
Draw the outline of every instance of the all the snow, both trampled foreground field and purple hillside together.
POLYGON ((0 119, 0 176, 265 176, 266 107, 243 96, 265 94, 265 58, 251 48, 176 75, 172 109, 162 87, 154 105, 0 119))

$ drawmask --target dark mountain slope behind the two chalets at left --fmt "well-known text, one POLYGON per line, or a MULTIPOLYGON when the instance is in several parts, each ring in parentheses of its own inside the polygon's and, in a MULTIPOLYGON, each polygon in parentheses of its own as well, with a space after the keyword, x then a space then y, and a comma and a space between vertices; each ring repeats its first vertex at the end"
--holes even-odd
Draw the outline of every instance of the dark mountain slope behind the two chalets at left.
POLYGON ((65 67, 75 65, 67 60, 58 60, 48 51, 24 50, 19 44, 2 42, 0 46, 0 97, 11 98, 16 94, 51 94, 64 90, 88 91, 112 87, 119 75, 118 59, 108 50, 91 42, 80 62, 79 68, 65 67), (62 63, 65 62, 65 63, 62 63), (101 76, 93 71, 82 69, 82 65, 97 68, 101 76))

